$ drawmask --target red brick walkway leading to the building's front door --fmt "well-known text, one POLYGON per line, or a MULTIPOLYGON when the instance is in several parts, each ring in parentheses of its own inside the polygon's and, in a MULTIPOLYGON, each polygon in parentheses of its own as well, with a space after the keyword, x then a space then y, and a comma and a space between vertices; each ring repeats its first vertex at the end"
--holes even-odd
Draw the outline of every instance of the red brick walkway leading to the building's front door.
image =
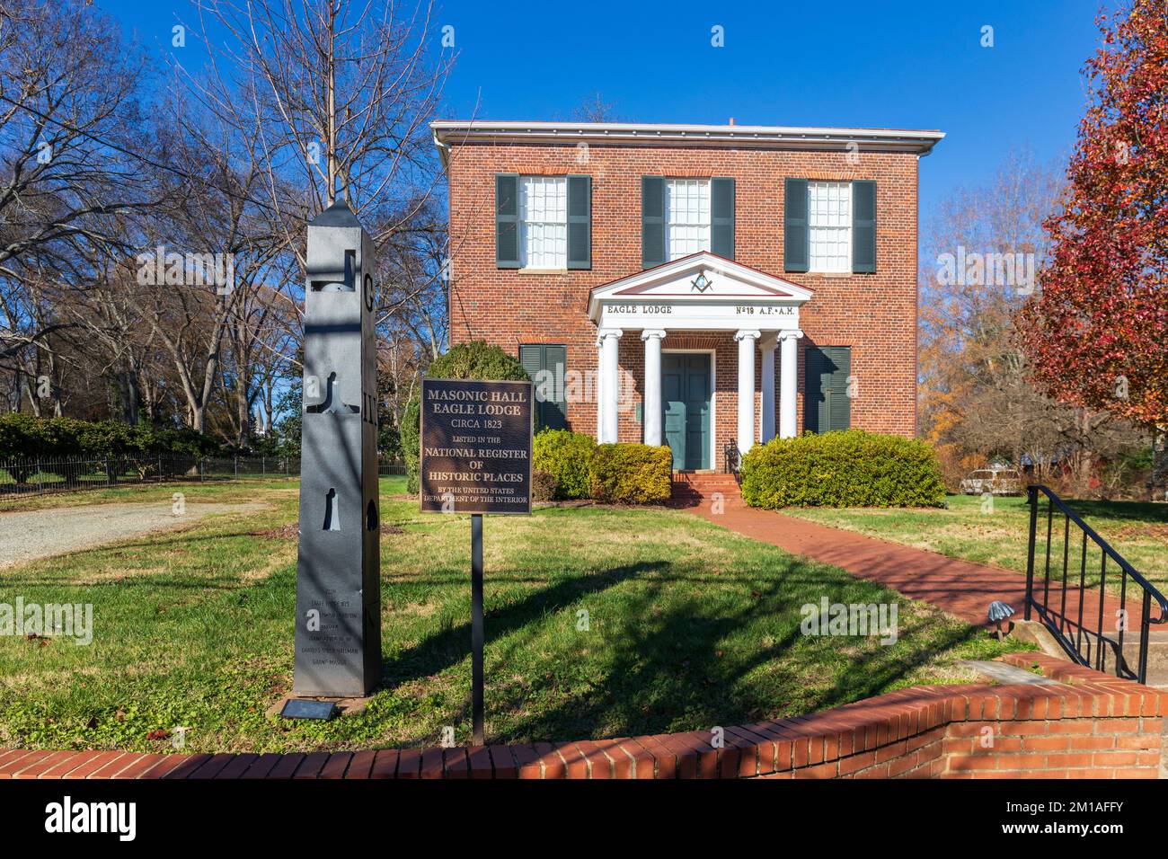
MULTIPOLYGON (((986 617, 989 603, 1001 600, 1022 616, 1026 604, 1026 575, 1001 567, 989 567, 972 561, 959 561, 936 552, 915 549, 909 546, 885 542, 853 531, 830 528, 805 519, 783 515, 769 510, 746 507, 731 493, 725 493, 725 508, 714 513, 708 498, 697 503, 680 505, 716 525, 736 531, 745 536, 778 546, 792 554, 805 555, 834 567, 848 570, 861 579, 878 582, 912 600, 936 605, 962 621, 990 626, 986 617)), ((1058 562, 1062 577, 1062 561, 1058 562)), ((1078 591, 1072 589, 1078 570, 1071 570, 1068 594, 1068 617, 1078 616, 1078 591)), ((1051 577, 1055 563, 1051 563, 1051 577)), ((1035 587, 1042 584, 1036 577, 1035 587)), ((1084 604, 1083 624, 1099 625, 1098 591, 1089 594, 1084 604)), ((1138 595, 1136 595, 1138 596, 1138 595)), ((1048 605, 1062 607, 1062 588, 1052 582, 1048 605)), ((1115 612, 1120 608, 1118 598, 1108 595, 1104 600, 1105 626, 1115 625, 1115 612)), ((1140 605, 1135 597, 1127 601, 1128 629, 1136 629, 1140 605)))

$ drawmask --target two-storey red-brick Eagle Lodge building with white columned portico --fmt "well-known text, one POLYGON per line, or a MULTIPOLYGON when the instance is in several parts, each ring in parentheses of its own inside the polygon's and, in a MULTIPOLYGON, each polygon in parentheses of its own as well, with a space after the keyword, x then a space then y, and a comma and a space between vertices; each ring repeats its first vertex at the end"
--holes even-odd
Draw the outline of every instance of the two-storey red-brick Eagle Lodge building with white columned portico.
POLYGON ((451 342, 520 358, 541 427, 723 470, 776 435, 912 436, 917 159, 936 131, 432 124, 451 342))

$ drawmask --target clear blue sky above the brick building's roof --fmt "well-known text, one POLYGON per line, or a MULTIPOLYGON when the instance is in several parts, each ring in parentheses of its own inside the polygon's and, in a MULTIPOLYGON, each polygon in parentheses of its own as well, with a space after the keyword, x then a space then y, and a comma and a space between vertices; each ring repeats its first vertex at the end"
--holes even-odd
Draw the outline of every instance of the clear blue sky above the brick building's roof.
MULTIPOLYGON (((169 28, 194 18, 185 0, 96 5, 166 50, 169 28)), ((1011 147, 1065 161, 1097 11, 1094 0, 446 0, 437 21, 454 28, 459 57, 442 116, 566 119, 600 92, 634 122, 940 129, 946 139, 920 164, 927 220, 1011 147), (992 48, 980 44, 986 25, 992 48), (724 47, 711 46, 715 26, 724 47)))

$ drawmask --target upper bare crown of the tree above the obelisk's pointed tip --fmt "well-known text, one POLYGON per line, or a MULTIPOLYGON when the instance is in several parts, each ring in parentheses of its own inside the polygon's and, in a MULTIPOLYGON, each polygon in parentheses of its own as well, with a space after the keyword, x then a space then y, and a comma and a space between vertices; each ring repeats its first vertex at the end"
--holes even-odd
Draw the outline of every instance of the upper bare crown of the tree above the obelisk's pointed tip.
POLYGON ((433 7, 384 0, 193 0, 210 72, 179 67, 203 106, 255 140, 265 208, 304 268, 304 222, 345 196, 381 244, 434 187, 427 123, 452 57, 431 62, 433 7), (294 189, 294 190, 291 190, 294 189))

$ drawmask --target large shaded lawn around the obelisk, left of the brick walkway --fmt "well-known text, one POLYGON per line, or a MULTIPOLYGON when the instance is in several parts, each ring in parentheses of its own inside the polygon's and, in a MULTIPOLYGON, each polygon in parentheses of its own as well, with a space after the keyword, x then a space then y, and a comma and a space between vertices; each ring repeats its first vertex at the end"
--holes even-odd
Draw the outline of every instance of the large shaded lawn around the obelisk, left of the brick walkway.
MULTIPOLYGON (((0 571, 0 602, 95 614, 89 646, 0 637, 0 746, 167 751, 147 735, 175 726, 196 751, 436 744, 444 726, 468 741, 468 520, 419 514, 394 494, 401 478, 382 489, 385 684, 362 713, 266 715, 291 684, 294 483, 130 487, 55 503, 169 503, 181 490, 270 508, 0 571)), ((955 660, 1003 651, 937 610, 680 511, 545 507, 488 518, 485 541, 489 742, 794 715, 969 680, 955 660), (800 607, 822 596, 898 602, 897 643, 801 635, 800 607)))

